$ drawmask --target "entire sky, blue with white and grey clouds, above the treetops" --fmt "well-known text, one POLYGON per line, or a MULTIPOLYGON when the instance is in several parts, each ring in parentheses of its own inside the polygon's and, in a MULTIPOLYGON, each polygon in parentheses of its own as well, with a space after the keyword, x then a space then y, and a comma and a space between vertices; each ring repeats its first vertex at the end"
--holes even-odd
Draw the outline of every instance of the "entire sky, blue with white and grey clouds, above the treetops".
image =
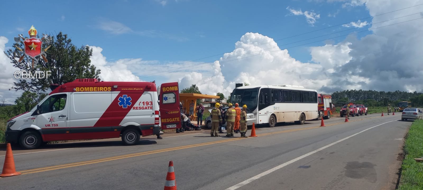
MULTIPOLYGON (((423 5, 395 11, 423 0, 40 0, 31 2, 40 11, 17 12, 17 5, 28 2, 2 3, 0 50, 10 48, 19 33, 27 36, 31 25, 38 33, 62 31, 75 45, 93 49, 91 63, 108 81, 179 81, 181 88, 197 84, 205 94, 225 95, 243 82, 302 85, 322 93, 423 89, 423 65, 415 64, 421 62, 423 19, 368 30, 423 17, 423 5), (385 22, 409 14, 416 15, 385 22), (348 31, 335 33, 342 30, 348 31), (320 35, 326 36, 306 40, 320 35), (203 62, 212 64, 197 68, 203 62), (404 79, 415 82, 404 86, 404 79)), ((0 83, 7 84, 0 86, 0 99, 13 102, 22 93, 8 90, 16 68, 1 54, 0 66, 0 83)))

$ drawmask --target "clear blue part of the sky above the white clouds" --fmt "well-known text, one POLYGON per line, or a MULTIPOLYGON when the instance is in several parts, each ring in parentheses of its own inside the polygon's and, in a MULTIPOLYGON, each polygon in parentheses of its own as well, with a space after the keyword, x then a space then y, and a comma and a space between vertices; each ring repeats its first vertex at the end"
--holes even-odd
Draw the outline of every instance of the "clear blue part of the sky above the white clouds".
MULTIPOLYGON (((341 8, 343 2, 322 3, 307 0, 283 1, 205 1, 205 0, 114 0, 108 1, 37 1, 42 5, 39 13, 16 14, 16 5, 26 1, 3 2, 0 34, 13 39, 19 33, 27 34, 34 24, 39 32, 68 34, 74 44, 100 46, 107 60, 143 58, 143 60, 179 61, 195 60, 223 52, 231 52, 234 43, 246 32, 260 33, 270 38, 286 38, 298 33, 317 30, 328 25, 341 24, 368 17, 365 7, 341 8), (313 10, 320 14, 314 26, 305 16, 287 16, 287 7, 313 10), (328 16, 336 14, 336 17, 328 16), (28 19, 30 17, 33 19, 28 19), (119 24, 120 23, 120 24, 119 24), (118 25, 116 25, 118 24, 118 25), (122 24, 122 25, 121 25, 122 24), (123 26, 123 28, 122 28, 123 26), (114 27, 114 28, 113 28, 114 27), (110 30, 107 30, 109 28, 110 30), (115 31, 121 28, 120 31, 115 31), (148 33, 146 35, 145 33, 148 33)), ((331 30, 277 41, 278 45, 345 30, 331 30)), ((360 29, 357 29, 360 30, 360 29)), ((363 29, 361 29, 363 30, 363 29)), ((338 33, 324 38, 334 37, 338 33)), ((361 34, 364 35, 364 34, 361 34)), ((324 39, 319 38, 319 39, 324 39)), ((333 40, 335 43, 344 38, 333 40)), ((312 40, 316 41, 318 39, 312 40)), ((6 46, 11 46, 9 40, 6 46)), ((311 42, 311 41, 307 41, 311 42)), ((281 48, 300 45, 300 42, 281 48)), ((309 46, 313 43, 288 49, 291 56, 302 61, 310 60, 309 46)), ((202 61, 217 60, 216 56, 202 61)))

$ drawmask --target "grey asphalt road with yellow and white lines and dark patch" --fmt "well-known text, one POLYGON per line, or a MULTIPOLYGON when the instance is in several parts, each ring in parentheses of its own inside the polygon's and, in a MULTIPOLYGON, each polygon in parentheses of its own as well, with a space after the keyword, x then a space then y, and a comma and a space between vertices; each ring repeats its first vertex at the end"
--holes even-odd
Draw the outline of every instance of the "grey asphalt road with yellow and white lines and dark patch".
POLYGON ((201 130, 143 138, 136 146, 108 139, 14 149, 22 175, 0 184, 13 190, 160 190, 173 160, 179 190, 393 189, 411 122, 402 122, 401 114, 343 120, 325 120, 326 127, 320 121, 258 127, 258 137, 249 138, 201 130))

